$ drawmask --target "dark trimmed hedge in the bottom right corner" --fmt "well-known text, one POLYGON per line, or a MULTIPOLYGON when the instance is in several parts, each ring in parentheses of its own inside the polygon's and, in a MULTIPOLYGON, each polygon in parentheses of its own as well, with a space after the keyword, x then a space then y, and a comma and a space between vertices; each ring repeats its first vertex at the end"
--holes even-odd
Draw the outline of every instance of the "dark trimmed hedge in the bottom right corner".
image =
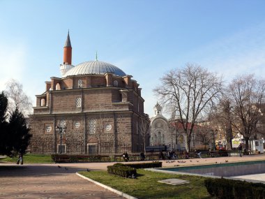
POLYGON ((233 179, 205 179, 204 184, 211 196, 219 199, 264 199, 265 184, 233 179))

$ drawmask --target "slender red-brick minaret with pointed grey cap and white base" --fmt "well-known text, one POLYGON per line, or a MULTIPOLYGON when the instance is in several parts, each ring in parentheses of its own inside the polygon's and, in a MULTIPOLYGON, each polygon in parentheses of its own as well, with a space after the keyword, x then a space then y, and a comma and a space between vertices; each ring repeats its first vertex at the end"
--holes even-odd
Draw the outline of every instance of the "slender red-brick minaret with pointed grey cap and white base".
POLYGON ((72 46, 68 30, 66 44, 63 47, 63 64, 60 65, 61 75, 64 75, 73 67, 74 66, 72 65, 72 46))

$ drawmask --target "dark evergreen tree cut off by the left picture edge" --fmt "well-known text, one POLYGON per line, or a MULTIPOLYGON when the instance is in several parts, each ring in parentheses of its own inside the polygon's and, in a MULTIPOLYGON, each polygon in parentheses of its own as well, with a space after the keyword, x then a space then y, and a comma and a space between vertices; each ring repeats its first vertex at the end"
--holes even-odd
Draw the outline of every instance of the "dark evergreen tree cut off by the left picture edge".
POLYGON ((8 108, 8 98, 0 93, 0 154, 6 154, 6 135, 8 122, 6 121, 6 111, 8 108))

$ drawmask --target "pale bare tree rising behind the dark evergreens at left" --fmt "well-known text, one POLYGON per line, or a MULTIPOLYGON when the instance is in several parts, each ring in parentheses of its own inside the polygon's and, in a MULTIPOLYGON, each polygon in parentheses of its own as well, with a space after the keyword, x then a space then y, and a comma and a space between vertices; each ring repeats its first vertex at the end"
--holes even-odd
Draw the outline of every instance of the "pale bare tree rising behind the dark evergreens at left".
POLYGON ((17 108, 23 115, 32 112, 32 102, 24 93, 23 86, 17 80, 11 79, 6 83, 6 95, 8 96, 8 112, 14 112, 17 108))

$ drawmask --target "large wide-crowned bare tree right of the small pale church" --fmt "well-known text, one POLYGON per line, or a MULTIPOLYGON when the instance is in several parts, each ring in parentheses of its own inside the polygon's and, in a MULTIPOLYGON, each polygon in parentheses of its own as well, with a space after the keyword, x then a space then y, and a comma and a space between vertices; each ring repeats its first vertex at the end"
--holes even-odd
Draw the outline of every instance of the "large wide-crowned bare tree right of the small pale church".
POLYGON ((174 109, 179 115, 186 134, 186 149, 190 142, 195 122, 206 117, 220 96, 222 80, 196 64, 169 71, 161 79, 162 84, 153 91, 167 110, 174 109))

